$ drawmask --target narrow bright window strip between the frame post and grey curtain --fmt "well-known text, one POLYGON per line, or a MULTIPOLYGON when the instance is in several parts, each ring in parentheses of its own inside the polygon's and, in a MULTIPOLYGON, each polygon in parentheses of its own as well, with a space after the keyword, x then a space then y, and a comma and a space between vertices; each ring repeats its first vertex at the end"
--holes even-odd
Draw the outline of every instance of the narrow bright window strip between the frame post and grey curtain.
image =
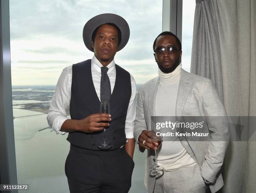
POLYGON ((182 2, 182 68, 190 71, 195 15, 195 0, 182 2))

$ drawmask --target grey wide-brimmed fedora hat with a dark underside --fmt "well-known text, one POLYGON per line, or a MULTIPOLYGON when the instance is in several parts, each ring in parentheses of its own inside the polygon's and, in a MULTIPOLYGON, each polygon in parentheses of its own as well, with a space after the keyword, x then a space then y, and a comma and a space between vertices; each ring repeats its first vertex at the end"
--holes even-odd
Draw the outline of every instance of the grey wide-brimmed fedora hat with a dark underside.
POLYGON ((95 17, 87 21, 87 23, 85 23, 83 30, 84 44, 92 52, 92 33, 98 26, 105 23, 114 23, 121 30, 122 40, 119 45, 119 50, 123 49, 129 40, 130 28, 124 18, 113 13, 103 13, 100 15, 96 15, 95 17))

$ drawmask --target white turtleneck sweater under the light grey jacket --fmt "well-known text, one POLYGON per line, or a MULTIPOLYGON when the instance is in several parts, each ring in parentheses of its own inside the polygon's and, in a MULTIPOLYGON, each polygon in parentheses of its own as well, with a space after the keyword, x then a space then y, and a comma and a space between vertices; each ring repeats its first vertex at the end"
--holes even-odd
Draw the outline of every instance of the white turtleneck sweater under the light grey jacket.
MULTIPOLYGON (((176 122, 176 99, 181 71, 181 63, 174 71, 168 74, 158 69, 159 85, 156 93, 156 116, 168 116, 172 122, 176 122)), ((175 132, 175 129, 173 131, 175 132)), ((173 171, 197 165, 182 146, 178 137, 164 138, 158 150, 157 161, 159 165, 164 166, 164 171, 173 171)))

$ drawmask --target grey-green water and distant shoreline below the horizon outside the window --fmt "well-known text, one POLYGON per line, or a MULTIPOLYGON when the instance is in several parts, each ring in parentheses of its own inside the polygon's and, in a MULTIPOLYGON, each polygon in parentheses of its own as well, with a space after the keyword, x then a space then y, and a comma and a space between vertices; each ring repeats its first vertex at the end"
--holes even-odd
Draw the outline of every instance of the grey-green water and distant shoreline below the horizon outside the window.
MULTIPOLYGON (((138 85, 137 87, 139 87, 138 85)), ((19 184, 29 184, 20 193, 69 192, 64 173, 69 152, 67 134, 56 134, 46 120, 54 86, 13 87, 13 122, 19 184)), ((146 153, 134 153, 132 187, 129 193, 145 193, 144 167, 146 153)), ((125 167, 125 165, 124 165, 125 167)))

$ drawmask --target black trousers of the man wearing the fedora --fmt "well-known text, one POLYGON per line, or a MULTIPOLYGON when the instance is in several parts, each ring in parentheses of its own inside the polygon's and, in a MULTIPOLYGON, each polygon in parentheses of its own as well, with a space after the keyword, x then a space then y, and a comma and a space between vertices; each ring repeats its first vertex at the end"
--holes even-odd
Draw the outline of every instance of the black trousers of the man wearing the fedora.
POLYGON ((93 151, 71 145, 65 163, 70 193, 128 193, 133 168, 124 147, 93 151))

